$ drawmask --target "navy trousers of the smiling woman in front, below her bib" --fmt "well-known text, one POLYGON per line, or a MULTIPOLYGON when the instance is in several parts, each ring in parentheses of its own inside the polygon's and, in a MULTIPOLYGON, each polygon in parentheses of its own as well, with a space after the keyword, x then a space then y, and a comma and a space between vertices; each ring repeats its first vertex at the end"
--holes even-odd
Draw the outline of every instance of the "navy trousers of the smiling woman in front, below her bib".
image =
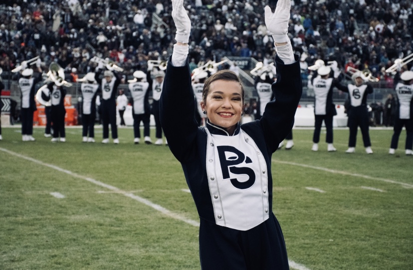
POLYGON ((289 269, 284 237, 274 214, 247 231, 222 227, 201 219, 200 257, 203 270, 289 269))

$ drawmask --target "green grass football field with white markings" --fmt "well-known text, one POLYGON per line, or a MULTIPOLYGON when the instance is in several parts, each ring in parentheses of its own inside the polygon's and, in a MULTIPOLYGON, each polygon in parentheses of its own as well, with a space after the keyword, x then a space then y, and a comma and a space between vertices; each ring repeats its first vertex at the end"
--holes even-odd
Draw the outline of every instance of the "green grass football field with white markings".
MULTIPOLYGON (((199 218, 179 162, 166 146, 65 143, 43 129, 0 141, 1 270, 200 269, 199 218), (54 193, 56 192, 56 193, 54 193), (54 194, 54 196, 52 195, 54 194), (63 195, 64 198, 58 198, 63 195)), ((393 131, 371 130, 374 154, 346 154, 348 130, 334 131, 337 152, 312 152, 311 129, 273 155, 274 212, 291 269, 413 269, 413 156, 389 155, 393 131)), ((152 131, 154 136, 155 132, 152 131)), ((155 138, 153 137, 153 140, 155 138)))

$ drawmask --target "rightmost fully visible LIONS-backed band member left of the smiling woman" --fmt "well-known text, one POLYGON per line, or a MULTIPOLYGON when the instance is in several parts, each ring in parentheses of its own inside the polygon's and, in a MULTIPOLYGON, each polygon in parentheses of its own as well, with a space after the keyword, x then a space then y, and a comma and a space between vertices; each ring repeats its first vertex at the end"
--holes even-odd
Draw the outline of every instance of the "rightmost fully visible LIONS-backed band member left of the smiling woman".
POLYGON ((151 109, 149 105, 149 83, 143 82, 146 74, 143 71, 135 71, 133 73, 135 77, 133 80, 129 80, 129 91, 132 96, 132 116, 133 116, 133 134, 134 142, 138 144, 141 141, 141 121, 144 125, 144 140, 146 144, 151 144, 150 137, 150 121, 151 121, 151 109))

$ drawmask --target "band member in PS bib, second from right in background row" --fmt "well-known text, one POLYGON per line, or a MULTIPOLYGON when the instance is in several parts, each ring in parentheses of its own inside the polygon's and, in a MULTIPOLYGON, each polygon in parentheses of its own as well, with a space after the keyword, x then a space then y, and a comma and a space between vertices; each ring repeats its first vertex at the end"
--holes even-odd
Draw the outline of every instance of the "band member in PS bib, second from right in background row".
POLYGON ((349 148, 346 153, 356 152, 356 140, 357 140, 357 129, 360 127, 361 133, 363 135, 364 147, 366 148, 366 153, 372 154, 372 143, 370 141, 369 135, 369 112, 367 110, 367 95, 373 93, 373 87, 370 84, 366 84, 363 81, 363 74, 355 72, 352 75, 353 84, 348 84, 343 86, 337 84, 336 87, 343 91, 349 93, 350 97, 350 107, 348 109, 348 124, 350 129, 349 135, 349 148))

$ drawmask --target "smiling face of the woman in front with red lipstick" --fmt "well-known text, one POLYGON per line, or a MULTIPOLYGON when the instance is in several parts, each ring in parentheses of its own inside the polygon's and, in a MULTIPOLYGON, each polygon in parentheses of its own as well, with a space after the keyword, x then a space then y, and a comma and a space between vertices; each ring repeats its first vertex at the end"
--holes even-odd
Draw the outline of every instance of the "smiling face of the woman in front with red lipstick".
POLYGON ((211 124, 224 128, 232 135, 242 115, 241 85, 237 81, 213 81, 207 99, 201 102, 201 108, 207 112, 211 124))

